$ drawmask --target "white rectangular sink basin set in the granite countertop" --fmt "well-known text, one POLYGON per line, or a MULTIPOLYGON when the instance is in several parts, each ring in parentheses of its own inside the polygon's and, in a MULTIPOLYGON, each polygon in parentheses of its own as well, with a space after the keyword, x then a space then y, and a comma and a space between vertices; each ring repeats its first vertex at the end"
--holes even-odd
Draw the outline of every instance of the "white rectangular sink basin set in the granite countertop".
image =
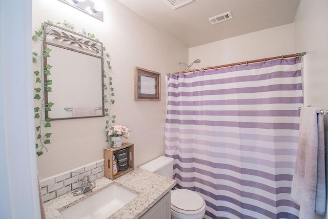
POLYGON ((66 219, 105 219, 136 196, 136 193, 113 184, 60 213, 66 219))

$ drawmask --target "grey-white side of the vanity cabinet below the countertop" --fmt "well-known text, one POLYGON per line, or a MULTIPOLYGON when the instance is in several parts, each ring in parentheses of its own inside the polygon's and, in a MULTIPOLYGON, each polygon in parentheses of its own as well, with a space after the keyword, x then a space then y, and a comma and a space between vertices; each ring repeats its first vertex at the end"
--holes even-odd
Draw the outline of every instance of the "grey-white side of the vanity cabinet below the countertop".
POLYGON ((170 219, 171 218, 171 192, 164 195, 140 219, 170 219))

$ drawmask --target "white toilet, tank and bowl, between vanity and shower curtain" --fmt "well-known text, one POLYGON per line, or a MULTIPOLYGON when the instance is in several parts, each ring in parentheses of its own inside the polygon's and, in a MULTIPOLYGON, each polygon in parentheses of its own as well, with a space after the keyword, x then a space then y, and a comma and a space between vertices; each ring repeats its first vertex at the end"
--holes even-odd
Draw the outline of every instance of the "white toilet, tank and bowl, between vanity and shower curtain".
MULTIPOLYGON (((173 161, 171 157, 160 156, 139 168, 172 178, 173 161)), ((171 191, 172 219, 201 219, 205 214, 205 207, 203 198, 194 191, 188 189, 171 191)))

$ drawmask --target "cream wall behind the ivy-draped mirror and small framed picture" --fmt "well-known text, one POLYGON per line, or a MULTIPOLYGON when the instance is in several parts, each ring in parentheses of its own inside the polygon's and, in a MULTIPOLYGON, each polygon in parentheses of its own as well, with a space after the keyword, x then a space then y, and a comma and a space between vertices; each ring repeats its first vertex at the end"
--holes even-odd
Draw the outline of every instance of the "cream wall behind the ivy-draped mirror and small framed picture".
MULTIPOLYGON (((104 22, 100 22, 57 0, 34 0, 33 31, 48 19, 54 23, 66 20, 104 43, 113 67, 112 113, 117 116, 116 124, 127 125, 132 131, 128 142, 135 144, 138 167, 165 153, 165 74, 183 70, 177 63, 188 61, 188 48, 118 1, 104 2, 104 22), (161 73, 160 102, 134 101, 136 66, 161 73)), ((52 121, 49 152, 37 159, 40 176, 46 178, 103 158, 105 121, 104 117, 52 121)))

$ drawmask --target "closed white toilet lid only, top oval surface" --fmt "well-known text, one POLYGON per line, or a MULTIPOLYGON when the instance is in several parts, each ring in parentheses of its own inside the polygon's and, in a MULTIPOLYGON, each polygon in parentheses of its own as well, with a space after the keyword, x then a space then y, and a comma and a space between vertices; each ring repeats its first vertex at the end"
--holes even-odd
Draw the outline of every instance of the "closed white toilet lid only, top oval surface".
POLYGON ((171 194, 171 205, 182 210, 195 211, 200 209, 203 203, 199 194, 188 189, 176 189, 171 194))

